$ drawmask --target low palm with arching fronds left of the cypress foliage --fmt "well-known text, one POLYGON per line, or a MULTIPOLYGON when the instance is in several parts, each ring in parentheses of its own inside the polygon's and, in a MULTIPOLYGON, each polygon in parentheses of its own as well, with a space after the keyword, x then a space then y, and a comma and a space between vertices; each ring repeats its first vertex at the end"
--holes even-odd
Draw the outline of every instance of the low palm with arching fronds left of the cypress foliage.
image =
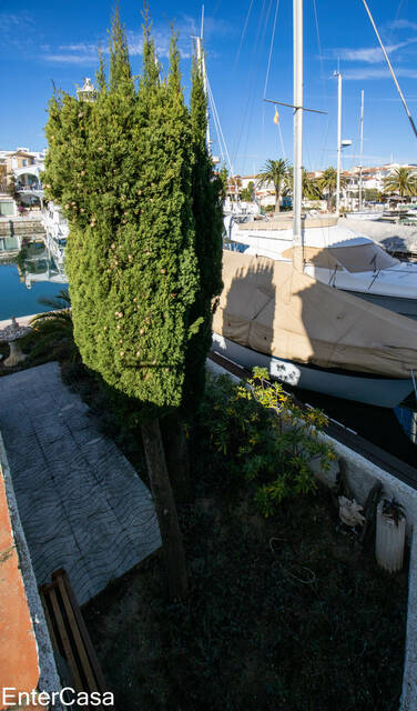
POLYGON ((34 348, 31 351, 31 357, 48 352, 59 344, 65 348, 70 362, 77 361, 79 359, 79 350, 74 341, 71 301, 68 289, 61 289, 57 297, 38 299, 38 301, 52 308, 52 310, 38 313, 31 320, 34 336, 34 348))

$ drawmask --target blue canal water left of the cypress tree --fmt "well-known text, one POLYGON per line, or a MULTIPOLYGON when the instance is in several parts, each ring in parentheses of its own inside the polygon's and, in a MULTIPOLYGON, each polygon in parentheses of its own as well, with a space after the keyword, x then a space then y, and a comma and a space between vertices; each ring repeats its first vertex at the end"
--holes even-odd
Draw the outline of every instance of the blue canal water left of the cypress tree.
POLYGON ((55 297, 67 287, 65 280, 45 251, 41 240, 27 246, 27 259, 17 263, 18 243, 13 238, 0 244, 0 321, 11 317, 48 311, 40 298, 55 297), (14 243, 16 242, 16 243, 14 243), (1 249, 3 247, 3 249, 1 249))

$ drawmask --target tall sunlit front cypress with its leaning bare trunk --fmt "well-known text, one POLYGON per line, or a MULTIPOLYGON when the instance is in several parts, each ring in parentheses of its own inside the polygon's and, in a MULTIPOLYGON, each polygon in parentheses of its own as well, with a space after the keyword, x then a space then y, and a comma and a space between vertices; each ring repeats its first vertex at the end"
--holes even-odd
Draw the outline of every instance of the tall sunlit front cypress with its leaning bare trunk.
POLYGON ((142 424, 173 597, 186 589, 185 561, 157 418, 184 397, 185 359, 199 284, 192 211, 192 149, 175 40, 160 81, 149 26, 135 91, 118 13, 110 80, 99 97, 50 102, 47 197, 63 206, 65 269, 74 337, 83 362, 142 424))

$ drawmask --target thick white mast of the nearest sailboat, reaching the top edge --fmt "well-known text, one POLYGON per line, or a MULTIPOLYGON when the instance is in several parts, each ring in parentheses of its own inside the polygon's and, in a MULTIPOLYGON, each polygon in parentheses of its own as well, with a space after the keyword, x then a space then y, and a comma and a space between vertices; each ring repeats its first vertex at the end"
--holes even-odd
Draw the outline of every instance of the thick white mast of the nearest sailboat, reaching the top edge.
POLYGON ((294 33, 294 174, 293 234, 294 267, 303 271, 303 0, 293 0, 294 33))

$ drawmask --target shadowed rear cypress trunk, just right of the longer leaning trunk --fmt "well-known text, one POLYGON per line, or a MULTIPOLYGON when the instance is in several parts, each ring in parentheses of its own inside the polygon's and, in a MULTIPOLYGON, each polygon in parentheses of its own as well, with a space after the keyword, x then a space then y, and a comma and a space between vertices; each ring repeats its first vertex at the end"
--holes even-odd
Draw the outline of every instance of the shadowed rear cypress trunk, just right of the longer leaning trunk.
POLYGON ((162 439, 164 443, 166 465, 175 503, 190 503, 190 458, 189 447, 182 421, 177 412, 161 420, 162 439))

